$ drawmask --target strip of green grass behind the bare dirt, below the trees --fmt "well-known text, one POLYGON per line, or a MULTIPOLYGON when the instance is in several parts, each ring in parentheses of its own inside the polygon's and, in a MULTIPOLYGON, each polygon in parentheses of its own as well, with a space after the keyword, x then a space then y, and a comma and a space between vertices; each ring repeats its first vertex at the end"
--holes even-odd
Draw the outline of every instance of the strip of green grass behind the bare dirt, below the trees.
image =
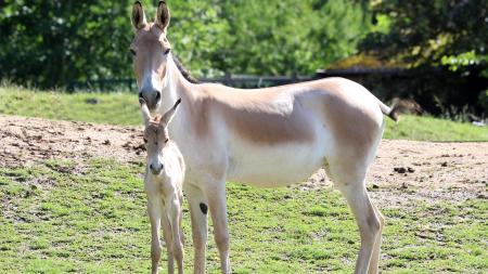
MULTIPOLYGON (((142 123, 137 95, 128 92, 67 94, 0 87, 0 114, 111 125, 142 123), (88 104, 90 99, 97 99, 99 103, 88 104)), ((398 123, 385 119, 385 139, 488 141, 488 127, 432 117, 400 116, 398 123)))

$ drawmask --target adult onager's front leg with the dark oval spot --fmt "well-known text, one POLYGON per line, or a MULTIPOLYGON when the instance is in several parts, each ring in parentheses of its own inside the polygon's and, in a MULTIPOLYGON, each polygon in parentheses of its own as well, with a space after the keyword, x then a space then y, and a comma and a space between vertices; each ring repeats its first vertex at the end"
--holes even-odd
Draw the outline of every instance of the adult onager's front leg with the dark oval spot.
POLYGON ((190 217, 192 221, 192 236, 194 248, 194 273, 205 273, 205 251, 208 237, 208 201, 201 188, 184 184, 188 204, 190 205, 190 217))

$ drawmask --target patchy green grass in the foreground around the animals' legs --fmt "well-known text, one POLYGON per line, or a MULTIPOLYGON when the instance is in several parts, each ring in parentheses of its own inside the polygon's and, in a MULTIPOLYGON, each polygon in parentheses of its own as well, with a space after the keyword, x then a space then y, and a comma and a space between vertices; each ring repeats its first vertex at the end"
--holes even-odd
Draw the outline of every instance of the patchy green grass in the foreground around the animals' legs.
MULTIPOLYGON (((0 273, 147 273, 142 171, 142 164, 110 159, 0 169, 0 273)), ((332 187, 303 192, 229 184, 228 205, 234 273, 352 272, 359 234, 332 187)), ((488 269, 487 212, 483 198, 383 209, 381 269, 483 273, 488 269)), ((191 272, 189 219, 185 209, 185 269, 191 272)), ((211 236, 207 258, 208 272, 218 273, 211 236)))

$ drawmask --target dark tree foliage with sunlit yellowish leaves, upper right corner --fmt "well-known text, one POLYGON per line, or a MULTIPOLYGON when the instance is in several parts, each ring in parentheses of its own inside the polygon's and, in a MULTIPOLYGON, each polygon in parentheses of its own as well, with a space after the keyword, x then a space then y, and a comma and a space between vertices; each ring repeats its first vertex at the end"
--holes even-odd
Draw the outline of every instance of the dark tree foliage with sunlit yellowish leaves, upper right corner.
POLYGON ((374 31, 363 48, 384 57, 401 57, 411 65, 487 66, 486 0, 377 1, 378 23, 389 18, 389 31, 374 31), (444 62, 442 62, 444 61, 444 62))

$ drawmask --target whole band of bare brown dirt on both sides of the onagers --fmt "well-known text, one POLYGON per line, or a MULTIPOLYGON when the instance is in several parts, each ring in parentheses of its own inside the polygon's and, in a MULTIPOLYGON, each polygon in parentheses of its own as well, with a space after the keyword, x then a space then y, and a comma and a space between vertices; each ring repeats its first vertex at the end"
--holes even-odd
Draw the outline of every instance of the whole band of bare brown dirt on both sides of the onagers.
MULTIPOLYGON (((142 127, 99 126, 0 116, 0 167, 25 166, 42 159, 144 157, 142 127)), ((368 175, 368 188, 382 208, 413 207, 415 201, 462 203, 488 198, 488 143, 432 143, 383 140, 368 175)), ((293 187, 331 185, 319 171, 293 187)))

